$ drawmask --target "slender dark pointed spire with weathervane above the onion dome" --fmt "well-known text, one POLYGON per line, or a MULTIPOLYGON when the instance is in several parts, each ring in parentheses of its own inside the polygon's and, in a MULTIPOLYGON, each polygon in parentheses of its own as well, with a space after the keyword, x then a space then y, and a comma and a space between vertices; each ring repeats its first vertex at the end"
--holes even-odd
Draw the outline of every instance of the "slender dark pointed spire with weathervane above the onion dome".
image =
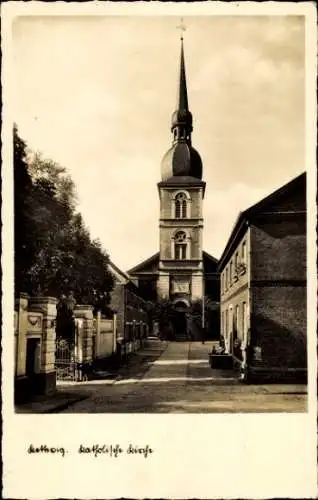
MULTIPOLYGON (((185 30, 183 23, 178 26, 182 31, 185 30)), ((173 141, 186 141, 191 144, 192 132, 192 114, 189 111, 188 90, 184 62, 183 36, 181 34, 181 54, 180 54, 180 74, 177 109, 172 115, 171 132, 173 133, 173 141)))

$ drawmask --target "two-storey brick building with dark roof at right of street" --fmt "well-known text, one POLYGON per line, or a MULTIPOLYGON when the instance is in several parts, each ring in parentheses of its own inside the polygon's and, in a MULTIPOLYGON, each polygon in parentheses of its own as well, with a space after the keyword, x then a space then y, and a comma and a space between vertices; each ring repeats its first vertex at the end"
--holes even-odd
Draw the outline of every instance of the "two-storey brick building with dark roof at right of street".
POLYGON ((306 175, 242 212, 219 262, 221 334, 242 377, 307 368, 306 175))

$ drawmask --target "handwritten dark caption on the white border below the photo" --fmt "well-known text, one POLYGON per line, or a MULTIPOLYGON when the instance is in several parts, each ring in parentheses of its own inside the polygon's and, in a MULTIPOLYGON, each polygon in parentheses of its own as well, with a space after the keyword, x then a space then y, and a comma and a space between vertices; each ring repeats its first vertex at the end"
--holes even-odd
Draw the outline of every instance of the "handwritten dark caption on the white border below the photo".
MULTIPOLYGON (((41 444, 40 446, 30 444, 27 451, 29 454, 60 455, 61 457, 65 457, 65 455, 69 452, 64 447, 50 447, 46 444, 41 444)), ((129 444, 127 447, 120 446, 119 444, 94 444, 92 446, 84 446, 81 444, 77 449, 77 453, 86 456, 91 455, 95 458, 101 455, 107 455, 114 458, 121 455, 141 455, 144 456, 144 458, 148 458, 153 453, 153 449, 148 444, 145 446, 129 444)))

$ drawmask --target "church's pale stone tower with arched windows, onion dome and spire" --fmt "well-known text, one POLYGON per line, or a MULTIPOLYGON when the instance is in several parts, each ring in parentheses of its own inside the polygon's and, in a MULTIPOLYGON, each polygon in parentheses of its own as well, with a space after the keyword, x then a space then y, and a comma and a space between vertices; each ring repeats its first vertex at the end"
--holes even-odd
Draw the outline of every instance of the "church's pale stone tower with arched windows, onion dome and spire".
POLYGON ((202 161, 192 147, 192 114, 181 37, 177 109, 172 114, 172 146, 161 162, 160 251, 157 293, 177 307, 204 295, 202 161))

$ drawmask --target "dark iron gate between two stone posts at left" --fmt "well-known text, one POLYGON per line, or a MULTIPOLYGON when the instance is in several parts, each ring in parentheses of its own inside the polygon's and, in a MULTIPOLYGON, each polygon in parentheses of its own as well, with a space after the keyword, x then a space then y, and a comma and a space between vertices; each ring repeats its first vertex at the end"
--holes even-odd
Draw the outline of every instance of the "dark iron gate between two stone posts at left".
POLYGON ((75 344, 63 337, 56 339, 55 369, 57 380, 77 381, 82 378, 75 344))

